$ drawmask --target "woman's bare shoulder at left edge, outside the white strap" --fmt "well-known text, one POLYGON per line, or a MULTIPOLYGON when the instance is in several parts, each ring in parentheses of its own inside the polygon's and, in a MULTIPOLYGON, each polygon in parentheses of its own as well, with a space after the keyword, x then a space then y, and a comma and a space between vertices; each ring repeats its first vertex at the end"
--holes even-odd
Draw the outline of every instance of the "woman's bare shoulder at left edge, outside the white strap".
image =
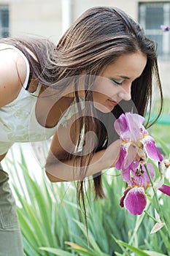
POLYGON ((0 49, 0 108, 12 102, 26 79, 26 61, 13 49, 0 49))

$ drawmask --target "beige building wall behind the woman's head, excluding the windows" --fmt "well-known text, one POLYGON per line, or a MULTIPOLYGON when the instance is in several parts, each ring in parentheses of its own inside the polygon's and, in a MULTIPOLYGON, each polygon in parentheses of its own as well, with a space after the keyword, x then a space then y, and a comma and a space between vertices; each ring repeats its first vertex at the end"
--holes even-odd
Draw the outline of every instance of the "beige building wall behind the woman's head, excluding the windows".
MULTIPOLYGON (((99 5, 119 7, 134 19, 138 19, 139 0, 0 0, 0 4, 9 4, 11 36, 36 34, 50 37, 53 42, 57 42, 63 34, 63 22, 66 22, 66 7, 63 7, 63 1, 70 1, 70 23, 88 8, 99 5)), ((140 0, 142 1, 147 0, 140 0)), ((65 29, 66 26, 67 24, 65 29)), ((170 64, 159 62, 159 67, 163 93, 170 97, 170 64)))

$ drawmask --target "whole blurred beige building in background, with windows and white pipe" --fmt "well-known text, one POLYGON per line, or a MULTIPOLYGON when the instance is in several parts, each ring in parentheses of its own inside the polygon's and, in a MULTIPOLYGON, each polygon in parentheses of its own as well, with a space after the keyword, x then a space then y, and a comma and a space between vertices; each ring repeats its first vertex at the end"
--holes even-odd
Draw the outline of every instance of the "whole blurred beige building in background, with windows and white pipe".
MULTIPOLYGON (((38 35, 57 42, 69 25, 90 7, 123 9, 138 20, 147 36, 158 42, 163 93, 170 98, 170 1, 147 0, 0 0, 0 37, 38 35)), ((93 25, 92 25, 93 26, 93 25)))

